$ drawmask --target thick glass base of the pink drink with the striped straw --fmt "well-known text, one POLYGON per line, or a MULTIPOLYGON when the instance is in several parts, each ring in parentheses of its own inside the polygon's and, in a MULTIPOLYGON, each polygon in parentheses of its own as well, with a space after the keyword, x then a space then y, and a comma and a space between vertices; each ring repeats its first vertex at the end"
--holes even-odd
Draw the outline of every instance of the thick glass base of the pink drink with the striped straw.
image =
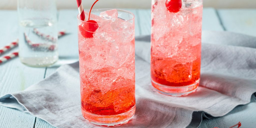
POLYGON ((120 126, 126 124, 134 116, 136 106, 134 105, 129 111, 117 115, 96 115, 82 109, 82 115, 92 124, 103 127, 120 126))

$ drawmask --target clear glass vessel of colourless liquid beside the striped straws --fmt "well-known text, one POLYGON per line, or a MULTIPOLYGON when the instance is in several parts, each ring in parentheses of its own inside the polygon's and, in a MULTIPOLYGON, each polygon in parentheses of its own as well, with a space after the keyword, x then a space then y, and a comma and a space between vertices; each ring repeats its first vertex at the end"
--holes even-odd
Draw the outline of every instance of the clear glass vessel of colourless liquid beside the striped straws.
POLYGON ((18 0, 19 58, 33 67, 58 60, 57 9, 55 0, 18 0))

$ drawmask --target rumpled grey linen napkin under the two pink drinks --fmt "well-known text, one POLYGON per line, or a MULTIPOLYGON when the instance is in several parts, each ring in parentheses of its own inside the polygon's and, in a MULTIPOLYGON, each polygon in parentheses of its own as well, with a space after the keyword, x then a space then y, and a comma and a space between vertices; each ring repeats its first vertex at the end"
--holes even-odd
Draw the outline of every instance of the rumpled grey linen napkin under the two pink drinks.
MULTIPOLYGON (((198 127, 202 116, 223 116, 256 92, 256 37, 204 31, 200 87, 186 97, 159 94, 150 82, 150 36, 136 39, 136 112, 121 127, 198 127), (209 43, 209 44, 207 44, 209 43)), ((80 112, 79 64, 63 65, 25 91, 4 95, 0 105, 30 113, 53 126, 99 127, 80 112)))

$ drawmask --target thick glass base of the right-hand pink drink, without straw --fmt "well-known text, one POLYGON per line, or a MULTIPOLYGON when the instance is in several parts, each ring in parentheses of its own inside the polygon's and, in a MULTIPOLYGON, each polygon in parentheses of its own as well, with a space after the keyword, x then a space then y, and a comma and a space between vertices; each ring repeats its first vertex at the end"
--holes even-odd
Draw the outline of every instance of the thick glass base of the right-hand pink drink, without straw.
POLYGON ((152 86, 158 92, 165 94, 165 95, 175 96, 175 97, 185 96, 185 95, 195 92, 199 86, 199 81, 200 81, 200 79, 198 79, 194 84, 177 87, 177 86, 162 85, 162 84, 159 84, 151 79, 152 86))

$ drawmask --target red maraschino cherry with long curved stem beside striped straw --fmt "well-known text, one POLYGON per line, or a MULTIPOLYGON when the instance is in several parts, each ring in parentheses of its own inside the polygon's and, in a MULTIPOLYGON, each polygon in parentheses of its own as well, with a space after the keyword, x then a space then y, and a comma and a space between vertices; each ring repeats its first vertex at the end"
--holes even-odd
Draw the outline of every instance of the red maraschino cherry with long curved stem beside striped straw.
MULTIPOLYGON (((99 0, 96 0, 92 7, 94 6, 94 4, 96 2, 98 2, 99 0)), ((90 9, 89 12, 89 17, 88 17, 88 21, 82 23, 81 25, 79 25, 79 30, 80 33, 82 34, 82 36, 84 38, 93 38, 93 33, 98 29, 99 24, 95 21, 95 20, 90 20, 90 15, 91 15, 91 11, 92 11, 92 7, 90 9)))

